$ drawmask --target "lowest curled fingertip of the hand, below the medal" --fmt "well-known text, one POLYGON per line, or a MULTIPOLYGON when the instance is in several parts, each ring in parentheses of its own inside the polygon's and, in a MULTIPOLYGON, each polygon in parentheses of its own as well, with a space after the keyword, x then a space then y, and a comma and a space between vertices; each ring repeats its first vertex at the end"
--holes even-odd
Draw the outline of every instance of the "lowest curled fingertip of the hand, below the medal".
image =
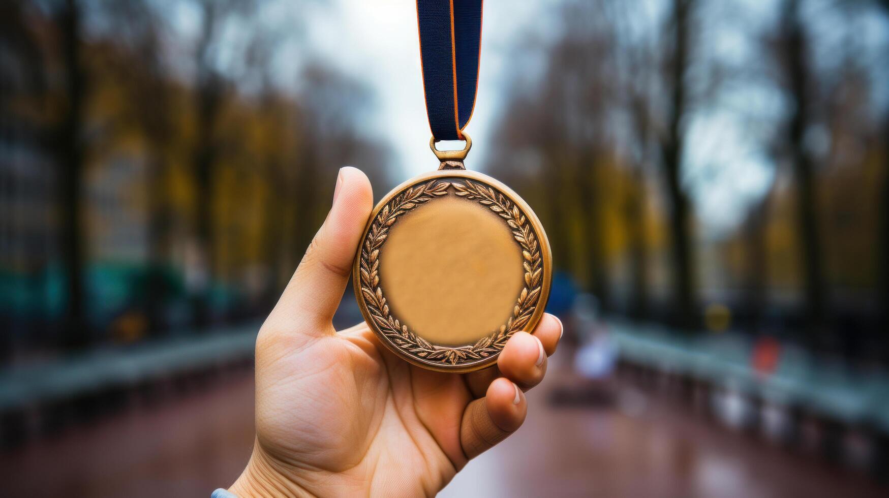
POLYGON ((467 458, 475 458, 500 443, 525 422, 528 412, 525 394, 501 377, 488 387, 485 398, 466 406, 460 428, 460 442, 467 458))

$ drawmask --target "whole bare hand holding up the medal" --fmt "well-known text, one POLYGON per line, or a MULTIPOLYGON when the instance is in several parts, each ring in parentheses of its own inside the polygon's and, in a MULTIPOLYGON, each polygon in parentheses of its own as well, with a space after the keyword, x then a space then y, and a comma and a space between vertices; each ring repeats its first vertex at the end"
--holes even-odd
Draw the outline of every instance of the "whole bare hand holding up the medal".
POLYGON ((525 421, 523 391, 546 373, 556 317, 471 374, 410 365, 364 323, 333 329, 371 210, 364 173, 340 170, 331 211, 256 340, 256 443, 233 493, 432 495, 525 421))

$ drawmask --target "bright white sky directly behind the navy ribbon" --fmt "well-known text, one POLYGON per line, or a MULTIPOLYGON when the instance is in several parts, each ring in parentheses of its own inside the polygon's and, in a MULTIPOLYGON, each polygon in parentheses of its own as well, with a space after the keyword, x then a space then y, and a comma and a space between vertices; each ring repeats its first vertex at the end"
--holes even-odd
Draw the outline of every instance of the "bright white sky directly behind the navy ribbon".
MULTIPOLYGON (((502 103, 506 52, 535 13, 551 1, 485 2, 477 105, 467 133, 473 149, 467 164, 481 167, 485 146, 502 103)), ((420 76, 416 4, 412 0, 354 2, 334 0, 313 9, 308 41, 340 70, 362 79, 376 92, 369 126, 392 147, 392 166, 404 180, 438 166, 428 149, 429 127, 420 76)), ((461 143, 454 143, 461 147, 461 143)))

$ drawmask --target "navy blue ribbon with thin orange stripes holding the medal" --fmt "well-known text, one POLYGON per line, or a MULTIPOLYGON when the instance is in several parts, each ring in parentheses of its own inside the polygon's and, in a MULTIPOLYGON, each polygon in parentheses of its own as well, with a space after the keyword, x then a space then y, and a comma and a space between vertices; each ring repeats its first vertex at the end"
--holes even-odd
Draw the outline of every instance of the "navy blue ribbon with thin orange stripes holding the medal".
POLYGON ((482 0, 417 0, 417 24, 432 136, 463 140, 476 105, 482 0))

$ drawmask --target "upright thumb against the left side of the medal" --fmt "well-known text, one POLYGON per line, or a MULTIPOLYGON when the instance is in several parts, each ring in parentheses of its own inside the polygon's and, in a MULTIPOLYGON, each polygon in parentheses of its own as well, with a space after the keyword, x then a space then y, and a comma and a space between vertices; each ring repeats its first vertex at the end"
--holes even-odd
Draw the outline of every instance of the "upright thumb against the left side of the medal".
POLYGON ((341 168, 324 225, 308 245, 267 323, 277 330, 305 325, 309 333, 328 333, 372 207, 367 176, 351 166, 341 168))

